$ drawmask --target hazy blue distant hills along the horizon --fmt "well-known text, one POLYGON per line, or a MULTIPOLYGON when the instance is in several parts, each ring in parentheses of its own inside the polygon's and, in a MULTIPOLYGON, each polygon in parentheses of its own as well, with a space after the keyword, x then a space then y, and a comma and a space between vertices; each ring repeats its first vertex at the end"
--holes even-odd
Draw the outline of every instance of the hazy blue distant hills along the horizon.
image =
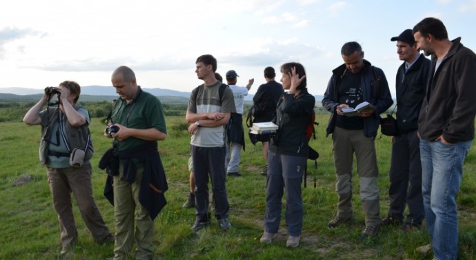
MULTIPOLYGON (((143 88, 153 94, 163 103, 186 103, 190 98, 190 92, 167 90, 163 88, 143 88)), ((0 88, 0 101, 37 101, 43 94, 43 90, 34 88, 0 88)), ((255 95, 248 94, 245 101, 251 102, 255 95)), ((83 102, 112 101, 117 99, 117 94, 112 86, 84 86, 81 87, 81 99, 83 102)), ((315 96, 316 103, 322 100, 321 95, 315 96)), ((246 102, 246 103, 249 103, 246 102)))

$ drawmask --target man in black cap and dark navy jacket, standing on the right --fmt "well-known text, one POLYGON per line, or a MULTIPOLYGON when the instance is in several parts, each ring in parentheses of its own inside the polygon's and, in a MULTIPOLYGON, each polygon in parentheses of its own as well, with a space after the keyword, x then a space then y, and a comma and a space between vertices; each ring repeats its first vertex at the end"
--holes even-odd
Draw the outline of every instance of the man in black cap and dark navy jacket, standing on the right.
POLYGON ((403 230, 421 228, 424 219, 422 163, 420 161, 418 116, 425 97, 430 60, 419 54, 411 29, 390 41, 397 41, 397 54, 404 63, 397 70, 397 126, 399 136, 392 137, 390 161, 390 209, 384 225, 401 225, 403 230), (404 221, 405 207, 408 215, 404 221))

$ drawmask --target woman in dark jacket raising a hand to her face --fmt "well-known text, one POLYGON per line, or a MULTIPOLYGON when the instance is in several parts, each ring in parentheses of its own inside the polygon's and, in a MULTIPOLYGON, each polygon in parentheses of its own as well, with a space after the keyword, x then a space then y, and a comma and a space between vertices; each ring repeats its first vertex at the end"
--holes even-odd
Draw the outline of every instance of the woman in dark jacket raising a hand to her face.
POLYGON ((306 71, 299 63, 281 66, 284 90, 277 104, 275 123, 279 127, 271 136, 266 180, 266 214, 261 243, 271 243, 279 230, 284 188, 286 187, 287 247, 299 245, 304 216, 301 183, 308 156, 306 127, 313 113, 315 98, 306 88, 306 71))

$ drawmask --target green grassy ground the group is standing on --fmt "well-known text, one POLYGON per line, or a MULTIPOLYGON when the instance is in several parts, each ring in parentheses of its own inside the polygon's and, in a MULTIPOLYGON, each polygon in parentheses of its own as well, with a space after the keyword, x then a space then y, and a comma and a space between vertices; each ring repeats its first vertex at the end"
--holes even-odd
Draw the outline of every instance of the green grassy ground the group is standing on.
MULTIPOLYGON (((170 190, 168 205, 155 220, 154 246, 157 259, 432 259, 432 255, 415 252, 417 246, 429 242, 424 230, 404 233, 384 227, 371 239, 360 239, 364 215, 359 201, 359 183, 355 183, 353 204, 355 221, 333 230, 326 227, 336 210, 335 174, 332 140, 324 130, 328 114, 318 114, 317 139, 311 142, 321 157, 316 171, 310 170, 307 188, 303 188, 304 227, 298 248, 286 248, 286 224, 275 243, 261 245, 263 232, 266 178, 259 175, 264 165, 261 144, 252 146, 246 137, 246 152, 242 153, 240 172, 243 177, 228 178, 230 221, 228 232, 220 230, 214 219, 210 228, 194 233, 190 230, 195 210, 181 208, 188 195, 187 160, 190 137, 184 130, 184 117, 168 117, 168 137, 159 142, 161 158, 166 168, 170 190), (314 177, 316 181, 314 182, 314 177), (314 183, 316 186, 314 187, 314 183)), ((102 137, 104 126, 93 119, 92 138, 95 156, 92 159, 92 186, 103 218, 115 229, 113 208, 103 197, 106 174, 97 168, 99 158, 110 148, 110 140, 102 137)), ((77 208, 75 217, 79 243, 72 252, 59 255, 59 226, 52 208, 46 170, 39 166, 39 127, 20 122, 0 123, 0 260, 7 259, 108 259, 112 246, 93 243, 77 208), (13 187, 21 174, 32 176, 30 183, 13 187)), ((379 163, 380 208, 383 217, 388 210, 388 167, 390 141, 377 137, 375 141, 379 163)), ((313 162, 308 161, 309 168, 313 162)), ((470 151, 464 166, 464 179, 458 195, 459 259, 475 259, 476 255, 476 151, 470 151)), ((75 202, 73 202, 75 203, 75 202)))

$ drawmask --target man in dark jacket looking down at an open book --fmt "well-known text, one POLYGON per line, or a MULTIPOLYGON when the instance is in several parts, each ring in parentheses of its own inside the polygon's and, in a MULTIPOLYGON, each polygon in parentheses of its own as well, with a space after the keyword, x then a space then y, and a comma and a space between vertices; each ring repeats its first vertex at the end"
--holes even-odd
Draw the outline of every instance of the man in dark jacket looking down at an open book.
POLYGON ((331 112, 327 134, 333 133, 336 191, 339 196, 337 214, 327 226, 335 228, 354 218, 352 169, 355 152, 360 198, 366 217, 366 228, 361 237, 373 237, 381 224, 375 136, 380 114, 392 106, 393 100, 384 72, 364 59, 359 43, 352 41, 344 44, 341 55, 344 64, 333 70, 322 99, 322 106, 331 112), (344 116, 342 108, 355 108, 364 101, 375 108, 360 112, 357 117, 344 116))

